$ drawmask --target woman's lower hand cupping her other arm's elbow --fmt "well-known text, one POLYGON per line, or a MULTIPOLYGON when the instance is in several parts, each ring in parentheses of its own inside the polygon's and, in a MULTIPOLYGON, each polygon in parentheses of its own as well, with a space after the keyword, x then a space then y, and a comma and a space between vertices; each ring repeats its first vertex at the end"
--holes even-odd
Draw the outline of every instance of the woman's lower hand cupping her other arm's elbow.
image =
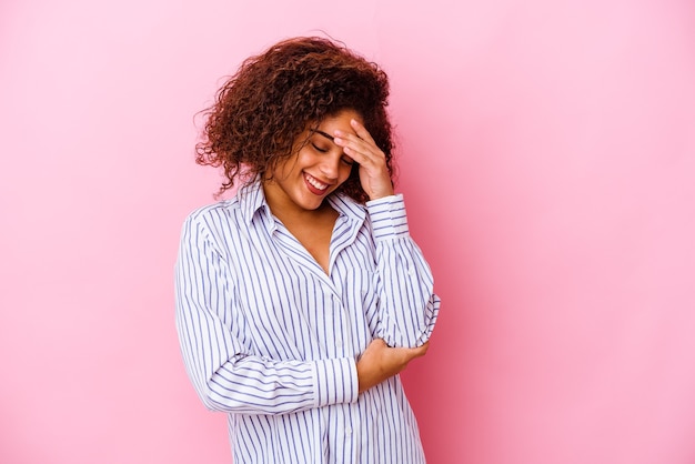
POLYGON ((424 356, 430 342, 414 349, 390 347, 382 339, 373 340, 357 361, 360 393, 403 371, 415 357, 424 356))

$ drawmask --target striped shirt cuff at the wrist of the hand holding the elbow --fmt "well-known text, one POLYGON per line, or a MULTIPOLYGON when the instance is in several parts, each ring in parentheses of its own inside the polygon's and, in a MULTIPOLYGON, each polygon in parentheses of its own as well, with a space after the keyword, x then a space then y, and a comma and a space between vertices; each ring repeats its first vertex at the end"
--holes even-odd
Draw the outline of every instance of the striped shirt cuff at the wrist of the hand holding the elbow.
POLYGON ((357 366, 352 357, 319 360, 313 374, 316 407, 357 401, 357 366))

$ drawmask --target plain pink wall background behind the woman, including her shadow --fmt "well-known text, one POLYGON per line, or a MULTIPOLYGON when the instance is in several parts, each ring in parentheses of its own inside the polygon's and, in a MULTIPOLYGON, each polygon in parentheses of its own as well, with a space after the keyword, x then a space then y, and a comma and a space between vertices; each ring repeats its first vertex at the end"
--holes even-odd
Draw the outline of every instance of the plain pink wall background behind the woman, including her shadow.
POLYGON ((193 115, 321 29, 392 78, 430 462, 695 463, 691 0, 3 0, 0 462, 230 461, 173 324, 193 115))

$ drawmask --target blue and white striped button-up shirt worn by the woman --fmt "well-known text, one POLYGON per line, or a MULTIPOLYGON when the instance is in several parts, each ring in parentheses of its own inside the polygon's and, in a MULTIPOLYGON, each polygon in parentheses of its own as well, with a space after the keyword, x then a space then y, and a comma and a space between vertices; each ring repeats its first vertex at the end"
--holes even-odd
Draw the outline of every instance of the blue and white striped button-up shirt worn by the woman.
POLYGON ((275 219, 259 182, 185 220, 177 329, 207 407, 228 413, 234 463, 423 463, 396 375, 357 395, 375 337, 429 340, 440 300, 402 195, 339 212, 329 274, 275 219))

